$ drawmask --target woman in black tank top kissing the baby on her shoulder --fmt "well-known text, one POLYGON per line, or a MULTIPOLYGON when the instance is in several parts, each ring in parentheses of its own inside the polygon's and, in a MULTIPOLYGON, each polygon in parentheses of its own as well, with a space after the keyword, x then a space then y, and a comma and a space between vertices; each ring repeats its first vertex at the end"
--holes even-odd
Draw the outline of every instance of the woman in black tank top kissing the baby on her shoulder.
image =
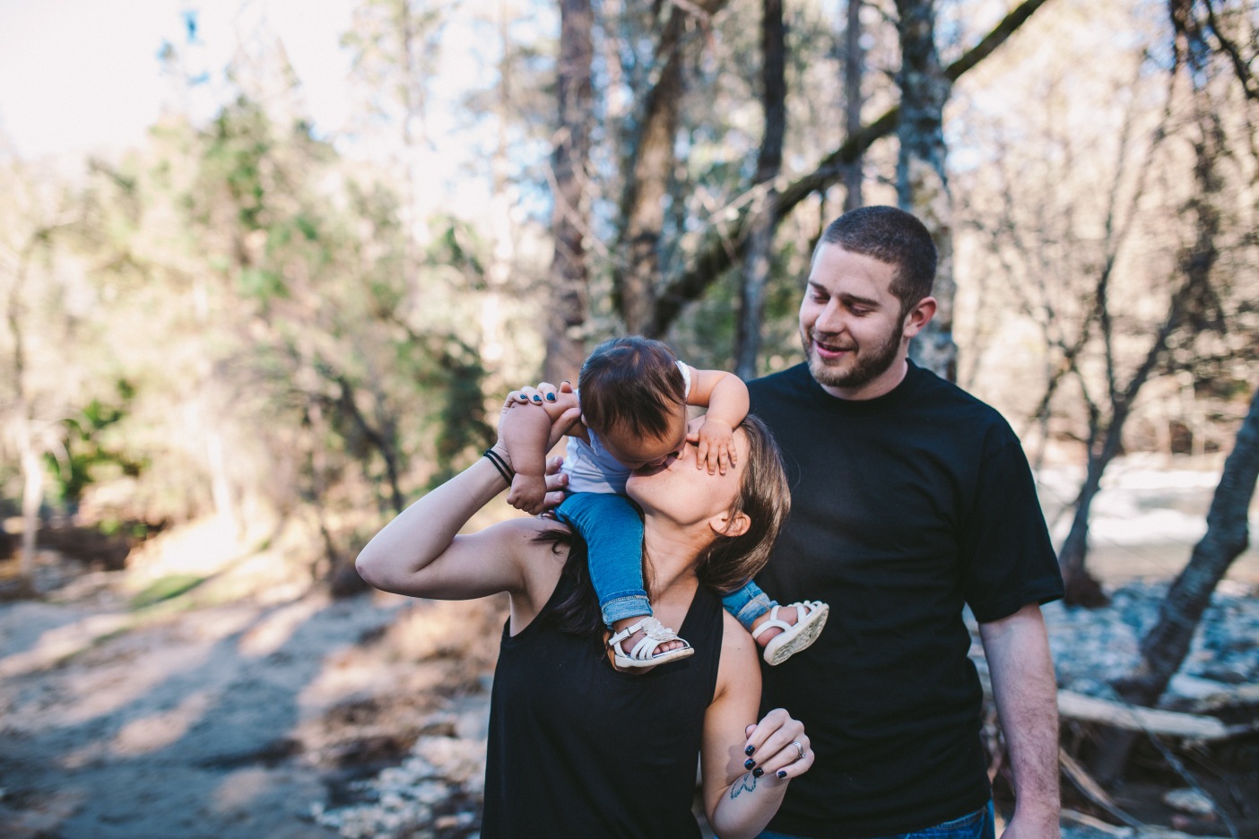
MULTIPOLYGON (((511 481, 504 429, 539 413, 509 401, 486 457, 407 508, 358 560, 363 577, 385 591, 510 596, 481 835, 699 836, 699 753, 713 829, 723 839, 755 836, 813 753, 803 726, 781 708, 754 722, 755 644, 708 586, 738 585, 764 566, 789 504, 773 439, 749 418, 725 474, 696 469, 687 442, 630 478, 656 615, 705 642, 691 658, 636 675, 611 664, 584 546, 564 526, 519 518, 457 535, 511 481)), ((551 445, 573 414, 553 425, 551 445)), ((559 486, 554 478, 550 488, 559 486)))

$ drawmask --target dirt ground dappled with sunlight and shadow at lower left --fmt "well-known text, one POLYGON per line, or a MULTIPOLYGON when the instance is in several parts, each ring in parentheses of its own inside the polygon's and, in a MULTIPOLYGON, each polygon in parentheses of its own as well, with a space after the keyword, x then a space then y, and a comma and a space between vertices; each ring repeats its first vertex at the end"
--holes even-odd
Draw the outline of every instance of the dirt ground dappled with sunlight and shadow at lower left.
POLYGON ((480 693, 414 631, 410 657, 434 662, 390 678, 403 603, 307 595, 131 629, 108 589, 0 606, 0 835, 335 836, 312 805, 399 762, 461 678, 480 693))

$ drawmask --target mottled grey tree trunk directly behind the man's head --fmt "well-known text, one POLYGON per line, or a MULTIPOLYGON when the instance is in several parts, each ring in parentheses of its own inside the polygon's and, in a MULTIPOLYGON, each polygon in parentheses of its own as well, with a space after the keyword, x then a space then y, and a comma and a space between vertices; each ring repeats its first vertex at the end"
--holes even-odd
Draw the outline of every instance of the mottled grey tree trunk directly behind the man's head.
POLYGON ((939 252, 935 267, 935 317, 910 345, 914 361, 957 380, 953 343, 953 199, 944 171, 944 103, 952 82, 935 49, 934 0, 896 0, 900 15, 900 156, 896 201, 918 216, 939 252))

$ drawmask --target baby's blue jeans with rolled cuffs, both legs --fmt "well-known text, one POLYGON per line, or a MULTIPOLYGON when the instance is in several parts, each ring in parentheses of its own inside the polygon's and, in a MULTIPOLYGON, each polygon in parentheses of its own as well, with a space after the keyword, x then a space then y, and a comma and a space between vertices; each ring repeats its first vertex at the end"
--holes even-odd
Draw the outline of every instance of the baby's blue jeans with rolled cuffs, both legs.
MULTIPOLYGON (((642 584, 642 518, 633 502, 614 493, 575 492, 555 514, 585 540, 603 623, 612 626, 623 618, 650 615, 642 584)), ((748 631, 752 621, 778 605, 750 580, 721 597, 721 604, 748 631)))

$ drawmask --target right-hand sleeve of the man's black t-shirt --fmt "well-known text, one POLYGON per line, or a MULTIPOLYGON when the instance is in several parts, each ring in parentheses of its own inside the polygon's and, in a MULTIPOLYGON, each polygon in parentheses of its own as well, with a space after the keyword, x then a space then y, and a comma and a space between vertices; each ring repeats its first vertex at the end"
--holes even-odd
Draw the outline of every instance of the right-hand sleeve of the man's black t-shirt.
POLYGON ((1008 426, 992 436, 962 537, 962 594, 980 623, 1063 596, 1058 557, 1019 438, 1008 426))

